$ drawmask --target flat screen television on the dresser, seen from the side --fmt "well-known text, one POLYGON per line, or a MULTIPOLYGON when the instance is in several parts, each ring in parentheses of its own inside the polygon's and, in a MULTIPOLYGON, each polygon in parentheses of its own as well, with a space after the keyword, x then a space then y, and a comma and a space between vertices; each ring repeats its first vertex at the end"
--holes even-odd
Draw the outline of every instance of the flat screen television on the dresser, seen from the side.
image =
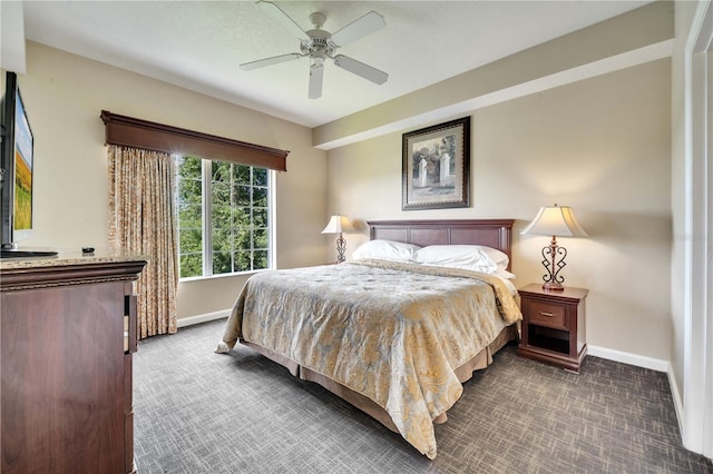
POLYGON ((19 240, 32 234, 32 190, 35 138, 14 72, 6 73, 1 103, 2 147, 0 148, 0 187, 2 199, 2 257, 53 255, 53 251, 13 251, 19 240), (8 254, 8 255, 6 255, 8 254), (27 254, 27 255, 23 255, 27 254))

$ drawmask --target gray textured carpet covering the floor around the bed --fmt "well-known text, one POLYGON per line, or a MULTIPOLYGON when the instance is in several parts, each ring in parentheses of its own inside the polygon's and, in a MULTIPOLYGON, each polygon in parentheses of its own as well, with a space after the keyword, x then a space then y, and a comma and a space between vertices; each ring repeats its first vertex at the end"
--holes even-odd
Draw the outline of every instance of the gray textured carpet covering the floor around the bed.
POLYGON ((215 354, 224 324, 139 343, 140 474, 713 473, 713 461, 682 447, 663 373, 589 356, 576 375, 508 346, 465 384, 429 461, 253 350, 215 354))

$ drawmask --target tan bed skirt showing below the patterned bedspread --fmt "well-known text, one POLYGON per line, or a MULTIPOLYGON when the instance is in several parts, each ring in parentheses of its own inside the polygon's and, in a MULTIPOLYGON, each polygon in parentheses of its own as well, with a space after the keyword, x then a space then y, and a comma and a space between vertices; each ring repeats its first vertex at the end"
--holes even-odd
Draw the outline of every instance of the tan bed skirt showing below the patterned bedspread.
MULTIPOLYGON (((468 361, 466 364, 456 368, 455 371, 456 376, 461 383, 470 379, 475 371, 484 369, 492 363, 494 354, 496 354, 498 350, 505 347, 510 340, 517 340, 517 338, 518 338, 517 324, 506 326, 500 332, 500 334, 495 338, 495 340, 490 343, 485 349, 480 350, 473 358, 468 361)), ((247 347, 251 347, 252 349, 258 352, 260 354, 264 355, 271 361, 276 362, 277 364, 286 367, 290 371, 290 373, 295 377, 300 377, 303 381, 309 381, 309 382, 314 382, 316 384, 320 384, 321 386, 323 386, 334 395, 339 396, 340 398, 343 398, 344 401, 349 402, 356 408, 361 409, 362 412, 367 413, 371 417, 375 418, 389 429, 397 433, 399 432, 395 425, 393 424, 393 422, 391 421, 391 416, 389 416, 389 413, 385 409, 383 409, 381 406, 377 405, 369 397, 365 397, 364 395, 361 395, 352 391, 351 388, 345 387, 339 382, 334 382, 331 378, 325 377, 320 373, 302 367, 296 362, 283 355, 280 355, 268 348, 265 348, 257 344, 253 344, 247 340, 243 340, 242 338, 238 340, 241 344, 247 347)), ((446 413, 441 413, 433 419, 433 423, 445 423, 447 419, 448 419, 448 416, 446 415, 446 413)))

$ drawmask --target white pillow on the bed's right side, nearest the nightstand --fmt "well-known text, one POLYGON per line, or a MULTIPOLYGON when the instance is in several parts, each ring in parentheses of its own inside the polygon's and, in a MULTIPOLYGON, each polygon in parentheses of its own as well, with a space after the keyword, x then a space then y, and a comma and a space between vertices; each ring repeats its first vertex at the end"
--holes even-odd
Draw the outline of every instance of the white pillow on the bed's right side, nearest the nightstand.
POLYGON ((437 267, 462 268, 502 278, 514 278, 507 271, 507 254, 482 245, 429 245, 416 253, 414 261, 437 267))

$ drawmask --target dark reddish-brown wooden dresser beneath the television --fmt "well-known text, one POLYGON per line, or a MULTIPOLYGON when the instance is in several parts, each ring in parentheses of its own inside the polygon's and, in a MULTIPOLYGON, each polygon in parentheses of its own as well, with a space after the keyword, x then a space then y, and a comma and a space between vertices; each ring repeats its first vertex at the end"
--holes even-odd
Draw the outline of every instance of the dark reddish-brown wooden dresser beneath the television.
POLYGON ((0 472, 131 473, 136 257, 0 261, 0 472))

